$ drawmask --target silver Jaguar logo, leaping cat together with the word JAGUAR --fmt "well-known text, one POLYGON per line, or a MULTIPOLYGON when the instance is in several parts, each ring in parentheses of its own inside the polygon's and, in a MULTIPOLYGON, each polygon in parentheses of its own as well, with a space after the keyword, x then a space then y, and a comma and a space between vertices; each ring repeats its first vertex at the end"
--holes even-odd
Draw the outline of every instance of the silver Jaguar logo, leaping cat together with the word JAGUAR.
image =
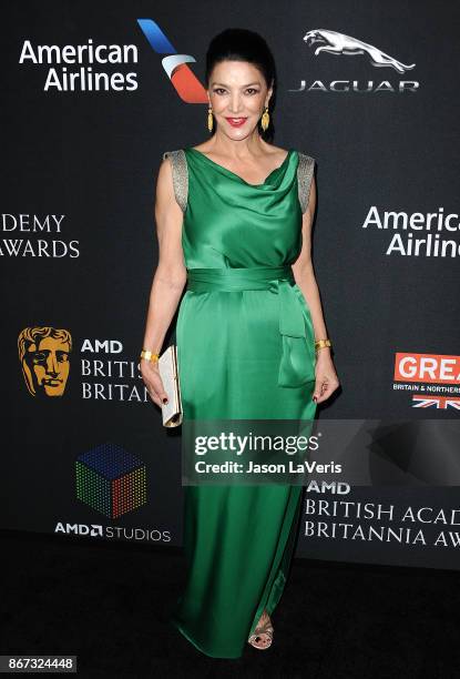
MULTIPOLYGON (((304 41, 309 48, 319 43, 315 48, 314 54, 318 57, 321 52, 334 54, 335 57, 357 57, 359 54, 365 58, 368 63, 377 69, 391 69, 397 73, 406 73, 411 71, 415 63, 402 63, 399 59, 387 54, 380 48, 362 42, 357 38, 351 38, 345 33, 329 31, 326 29, 313 29, 304 36, 304 41)), ((323 82, 315 80, 311 84, 307 84, 305 80, 300 81, 298 89, 292 89, 289 92, 355 92, 359 94, 389 92, 401 94, 403 92, 417 92, 420 83, 417 80, 331 80, 323 82)))

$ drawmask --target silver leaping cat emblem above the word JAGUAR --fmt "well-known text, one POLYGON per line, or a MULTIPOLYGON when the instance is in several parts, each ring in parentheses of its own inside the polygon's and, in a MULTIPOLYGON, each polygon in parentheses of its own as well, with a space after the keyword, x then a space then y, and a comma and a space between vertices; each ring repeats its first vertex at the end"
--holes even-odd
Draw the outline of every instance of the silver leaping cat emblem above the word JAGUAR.
POLYGON ((395 71, 398 71, 398 73, 410 71, 416 65, 415 63, 401 63, 372 44, 368 44, 367 42, 362 42, 361 40, 357 40, 350 36, 345 36, 344 33, 337 33, 336 31, 314 29, 304 36, 304 40, 308 47, 315 44, 315 42, 321 43, 316 48, 315 57, 317 57, 319 52, 328 52, 329 54, 345 54, 347 57, 354 57, 355 54, 367 54, 372 65, 377 68, 389 67, 395 69, 395 71))

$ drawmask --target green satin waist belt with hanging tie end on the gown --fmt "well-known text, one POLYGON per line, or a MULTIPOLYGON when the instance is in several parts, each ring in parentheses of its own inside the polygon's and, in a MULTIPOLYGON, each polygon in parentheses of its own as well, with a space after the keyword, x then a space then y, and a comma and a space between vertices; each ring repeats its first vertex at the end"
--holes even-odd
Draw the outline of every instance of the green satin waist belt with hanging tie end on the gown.
POLYGON ((278 386, 297 387, 315 379, 315 335, 308 307, 294 287, 289 264, 242 268, 188 268, 187 290, 202 292, 238 292, 272 290, 279 298, 279 333, 283 353, 278 386))

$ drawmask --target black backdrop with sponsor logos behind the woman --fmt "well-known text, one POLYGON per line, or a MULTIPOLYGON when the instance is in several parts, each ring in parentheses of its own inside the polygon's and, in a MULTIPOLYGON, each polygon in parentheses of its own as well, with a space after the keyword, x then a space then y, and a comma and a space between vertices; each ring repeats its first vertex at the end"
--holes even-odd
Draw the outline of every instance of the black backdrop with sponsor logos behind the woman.
POLYGON ((317 424, 361 460, 360 483, 311 473, 297 556, 460 568, 459 19, 400 0, 10 3, 2 528, 182 544, 181 427, 139 371, 155 182, 164 151, 208 136, 207 44, 243 27, 275 54, 275 143, 316 159, 341 383, 317 424))

